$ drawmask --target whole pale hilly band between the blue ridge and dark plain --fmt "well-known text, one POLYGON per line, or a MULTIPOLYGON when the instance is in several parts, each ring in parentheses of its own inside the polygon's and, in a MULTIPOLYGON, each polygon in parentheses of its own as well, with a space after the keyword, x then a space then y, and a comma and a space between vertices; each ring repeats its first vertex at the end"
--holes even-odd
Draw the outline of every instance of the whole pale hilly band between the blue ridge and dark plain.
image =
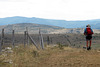
MULTIPOLYGON (((38 34, 39 28, 43 34, 66 34, 66 33, 83 33, 84 28, 63 28, 58 26, 43 25, 43 24, 34 24, 34 23, 18 23, 18 24, 9 24, 0 26, 0 32, 4 28, 5 33, 12 33, 12 30, 15 30, 16 34, 24 34, 26 27, 30 34, 38 34)), ((100 33, 100 30, 94 29, 94 33, 100 33)))

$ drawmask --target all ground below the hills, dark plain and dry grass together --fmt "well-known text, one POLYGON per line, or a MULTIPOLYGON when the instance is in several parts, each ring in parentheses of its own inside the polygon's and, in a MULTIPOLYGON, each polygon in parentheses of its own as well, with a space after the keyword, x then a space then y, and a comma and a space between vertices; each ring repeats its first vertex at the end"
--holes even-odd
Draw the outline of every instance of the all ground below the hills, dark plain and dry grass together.
MULTIPOLYGON (((40 43, 38 34, 31 36, 40 43)), ((11 47, 11 37, 5 35, 4 45, 11 47)), ((31 43, 21 45, 24 35, 16 34, 15 47, 10 52, 2 49, 0 67, 100 67, 100 34, 93 35, 89 51, 82 48, 86 44, 83 34, 43 34, 43 39, 45 49, 37 50, 31 43)))

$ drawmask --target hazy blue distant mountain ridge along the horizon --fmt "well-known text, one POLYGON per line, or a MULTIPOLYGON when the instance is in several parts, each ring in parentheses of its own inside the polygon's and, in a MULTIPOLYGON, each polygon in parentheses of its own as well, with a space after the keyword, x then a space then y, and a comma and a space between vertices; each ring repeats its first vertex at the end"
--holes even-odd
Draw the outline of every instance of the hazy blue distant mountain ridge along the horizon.
POLYGON ((85 20, 85 21, 66 21, 66 20, 53 20, 42 18, 28 18, 28 17, 6 17, 0 18, 0 25, 17 24, 17 23, 35 23, 44 25, 53 25, 64 28, 85 28, 87 24, 90 24, 93 29, 100 29, 100 19, 85 20))

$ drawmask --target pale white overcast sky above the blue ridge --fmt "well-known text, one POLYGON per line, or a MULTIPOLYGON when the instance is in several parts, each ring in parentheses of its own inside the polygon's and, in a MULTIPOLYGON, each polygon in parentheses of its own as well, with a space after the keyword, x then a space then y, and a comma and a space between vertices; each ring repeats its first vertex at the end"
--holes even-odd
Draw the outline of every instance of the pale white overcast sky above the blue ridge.
POLYGON ((100 0, 0 0, 0 18, 100 19, 100 0))

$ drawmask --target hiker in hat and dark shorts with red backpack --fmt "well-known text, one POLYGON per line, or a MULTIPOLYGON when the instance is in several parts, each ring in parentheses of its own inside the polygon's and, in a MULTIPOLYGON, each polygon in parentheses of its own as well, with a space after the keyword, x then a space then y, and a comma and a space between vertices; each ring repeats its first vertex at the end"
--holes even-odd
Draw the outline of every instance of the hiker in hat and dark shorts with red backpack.
POLYGON ((91 50, 92 34, 94 34, 94 32, 91 29, 91 26, 89 24, 86 25, 86 29, 84 30, 84 35, 86 36, 87 50, 91 50))

